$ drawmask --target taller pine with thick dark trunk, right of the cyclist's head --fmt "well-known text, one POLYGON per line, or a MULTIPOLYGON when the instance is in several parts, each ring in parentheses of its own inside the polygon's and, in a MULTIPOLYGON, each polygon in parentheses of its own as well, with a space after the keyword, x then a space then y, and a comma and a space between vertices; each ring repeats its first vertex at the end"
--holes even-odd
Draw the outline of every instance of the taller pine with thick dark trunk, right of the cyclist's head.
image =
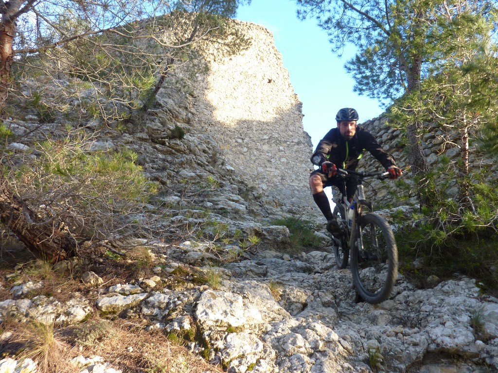
MULTIPOLYGON (((409 95, 422 96, 422 82, 430 76, 438 49, 434 35, 441 34, 439 21, 455 14, 480 14, 488 23, 496 4, 488 1, 441 0, 296 0, 298 16, 314 16, 324 28, 332 50, 341 51, 348 43, 358 49, 345 65, 356 81, 355 91, 391 103, 409 95)), ((416 175, 427 171, 419 136, 422 122, 415 108, 404 105, 408 161, 416 175), (408 120, 410 119, 410 120, 408 120)), ((398 110, 398 111, 399 111, 398 110)), ((421 201, 424 202, 424 201, 421 201)))

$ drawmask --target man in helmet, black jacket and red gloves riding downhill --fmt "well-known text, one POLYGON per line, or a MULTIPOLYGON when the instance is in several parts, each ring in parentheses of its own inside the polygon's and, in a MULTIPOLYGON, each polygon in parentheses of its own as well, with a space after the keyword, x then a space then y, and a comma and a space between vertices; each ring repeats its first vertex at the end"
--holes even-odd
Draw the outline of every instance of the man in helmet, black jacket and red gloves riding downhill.
POLYGON ((354 178, 349 178, 346 182, 338 178, 337 168, 356 170, 364 151, 368 150, 386 169, 390 179, 401 176, 401 170, 396 167, 392 155, 382 149, 369 131, 357 125, 358 118, 358 112, 351 107, 339 110, 336 115, 337 128, 332 128, 320 140, 311 155, 311 162, 320 167, 310 175, 311 194, 327 219, 327 230, 333 235, 339 233, 339 225, 333 219, 329 199, 323 188, 336 186, 351 202, 357 187, 354 178))

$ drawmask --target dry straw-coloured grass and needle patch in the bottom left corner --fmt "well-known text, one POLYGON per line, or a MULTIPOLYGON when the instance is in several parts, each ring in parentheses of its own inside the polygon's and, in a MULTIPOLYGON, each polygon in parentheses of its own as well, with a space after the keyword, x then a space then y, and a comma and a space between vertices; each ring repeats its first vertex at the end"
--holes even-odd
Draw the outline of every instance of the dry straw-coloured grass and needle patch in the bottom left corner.
POLYGON ((73 373, 70 361, 78 355, 100 356, 126 373, 222 373, 186 348, 173 344, 160 331, 145 331, 145 320, 110 322, 94 318, 80 325, 54 328, 40 323, 11 321, 2 325, 12 332, 0 345, 0 357, 30 358, 39 373, 73 373))

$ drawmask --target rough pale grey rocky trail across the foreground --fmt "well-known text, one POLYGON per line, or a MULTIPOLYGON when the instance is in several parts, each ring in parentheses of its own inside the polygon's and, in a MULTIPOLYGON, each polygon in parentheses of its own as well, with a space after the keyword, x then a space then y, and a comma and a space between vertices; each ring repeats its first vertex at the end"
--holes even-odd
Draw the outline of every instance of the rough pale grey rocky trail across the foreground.
MULTIPOLYGON (((415 289, 399 275, 390 299, 372 305, 355 303, 349 268, 338 270, 327 252, 291 258, 261 250, 223 267, 202 267, 210 255, 208 245, 184 242, 156 251, 149 278, 105 286, 88 273, 83 281, 95 287, 93 300, 80 293, 65 302, 29 298, 42 283, 11 286, 14 272, 1 282, 11 298, 0 302, 0 318, 55 325, 79 323, 94 313, 145 319, 146 330, 164 335, 195 331, 198 337, 187 340, 187 348, 228 372, 498 370, 498 299, 482 295, 472 279, 415 289), (185 258, 197 259, 187 264, 185 258), (204 274, 210 285, 172 281, 187 273, 204 274)), ((0 338, 8 344, 8 332, 0 338)), ((118 362, 107 363, 102 372, 120 371, 118 362)), ((0 371, 21 372, 7 366, 15 364, 4 359, 0 371)), ((80 372, 97 372, 88 366, 95 364, 80 372)))

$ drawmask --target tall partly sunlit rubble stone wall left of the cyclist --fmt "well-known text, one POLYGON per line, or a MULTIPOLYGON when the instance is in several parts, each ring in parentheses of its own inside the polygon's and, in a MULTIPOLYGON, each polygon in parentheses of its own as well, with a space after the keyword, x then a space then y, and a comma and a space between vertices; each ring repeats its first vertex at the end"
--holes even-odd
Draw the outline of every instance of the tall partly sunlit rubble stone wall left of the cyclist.
MULTIPOLYGON (((235 169, 275 204, 314 215, 308 186, 312 144, 303 130, 302 103, 271 32, 234 22, 251 46, 233 56, 207 56, 209 71, 192 84, 190 120, 182 127, 212 137, 228 170, 235 169)), ((178 105, 167 91, 158 98, 166 108, 178 105)))

